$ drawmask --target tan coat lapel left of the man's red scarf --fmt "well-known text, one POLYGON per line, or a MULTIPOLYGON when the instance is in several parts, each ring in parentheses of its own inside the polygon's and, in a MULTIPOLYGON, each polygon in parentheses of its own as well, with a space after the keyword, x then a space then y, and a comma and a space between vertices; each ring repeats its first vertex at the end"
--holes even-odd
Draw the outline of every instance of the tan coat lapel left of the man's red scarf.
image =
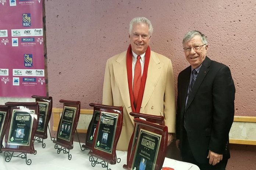
POLYGON ((120 56, 113 63, 113 71, 115 75, 115 81, 120 90, 122 101, 124 107, 126 108, 128 114, 132 111, 130 94, 128 88, 128 78, 127 78, 127 67, 126 67, 126 51, 122 52, 120 56))

